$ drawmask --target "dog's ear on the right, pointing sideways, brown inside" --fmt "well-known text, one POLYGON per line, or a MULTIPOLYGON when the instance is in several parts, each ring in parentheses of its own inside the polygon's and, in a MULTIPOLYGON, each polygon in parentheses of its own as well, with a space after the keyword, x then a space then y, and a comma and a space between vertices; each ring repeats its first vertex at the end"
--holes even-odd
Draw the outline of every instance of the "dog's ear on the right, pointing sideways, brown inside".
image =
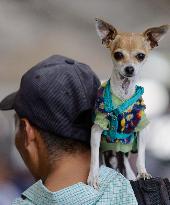
POLYGON ((158 46, 158 42, 165 36, 169 28, 169 25, 162 25, 160 27, 149 28, 144 32, 144 37, 150 42, 151 48, 158 46))

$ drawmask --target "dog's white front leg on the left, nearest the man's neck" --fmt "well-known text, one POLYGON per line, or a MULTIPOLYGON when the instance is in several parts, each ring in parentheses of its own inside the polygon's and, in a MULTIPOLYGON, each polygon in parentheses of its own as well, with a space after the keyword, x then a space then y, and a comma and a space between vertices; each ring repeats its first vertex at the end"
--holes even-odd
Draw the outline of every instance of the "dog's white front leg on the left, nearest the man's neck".
POLYGON ((98 177, 99 177, 99 148, 100 140, 103 129, 99 125, 94 124, 91 130, 91 163, 90 173, 87 179, 87 183, 98 189, 98 177))

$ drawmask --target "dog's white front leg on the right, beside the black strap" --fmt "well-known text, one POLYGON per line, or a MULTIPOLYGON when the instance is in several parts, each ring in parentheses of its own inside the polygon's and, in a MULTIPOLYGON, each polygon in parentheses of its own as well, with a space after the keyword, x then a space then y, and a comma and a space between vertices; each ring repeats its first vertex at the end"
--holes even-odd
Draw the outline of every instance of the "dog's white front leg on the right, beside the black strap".
POLYGON ((137 157, 137 171, 139 178, 149 179, 151 178, 151 175, 147 173, 145 168, 145 147, 146 147, 146 129, 142 132, 140 132, 140 135, 138 136, 138 157, 137 157))

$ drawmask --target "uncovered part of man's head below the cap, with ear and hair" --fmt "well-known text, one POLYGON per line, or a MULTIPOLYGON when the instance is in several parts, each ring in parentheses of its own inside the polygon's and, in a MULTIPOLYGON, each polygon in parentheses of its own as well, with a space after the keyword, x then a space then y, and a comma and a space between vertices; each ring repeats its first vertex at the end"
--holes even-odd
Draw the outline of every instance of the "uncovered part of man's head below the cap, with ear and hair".
POLYGON ((45 132, 17 114, 15 145, 36 179, 44 179, 65 158, 90 153, 88 143, 45 132))

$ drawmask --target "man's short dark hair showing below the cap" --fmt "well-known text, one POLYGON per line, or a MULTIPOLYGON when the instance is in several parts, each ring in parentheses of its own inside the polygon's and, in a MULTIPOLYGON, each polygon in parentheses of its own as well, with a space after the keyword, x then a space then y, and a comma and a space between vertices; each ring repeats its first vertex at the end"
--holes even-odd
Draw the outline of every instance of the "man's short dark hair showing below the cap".
MULTIPOLYGON (((18 115, 15 115, 15 125, 16 130, 23 130, 23 125, 21 123, 21 118, 18 115)), ((29 121, 30 123, 30 121, 29 121)), ((30 123, 40 134, 48 154, 51 160, 55 160, 61 157, 62 154, 75 154, 75 153, 84 153, 90 151, 90 144, 82 142, 80 140, 70 139, 63 136, 55 136, 52 133, 43 131, 39 127, 30 123)))

